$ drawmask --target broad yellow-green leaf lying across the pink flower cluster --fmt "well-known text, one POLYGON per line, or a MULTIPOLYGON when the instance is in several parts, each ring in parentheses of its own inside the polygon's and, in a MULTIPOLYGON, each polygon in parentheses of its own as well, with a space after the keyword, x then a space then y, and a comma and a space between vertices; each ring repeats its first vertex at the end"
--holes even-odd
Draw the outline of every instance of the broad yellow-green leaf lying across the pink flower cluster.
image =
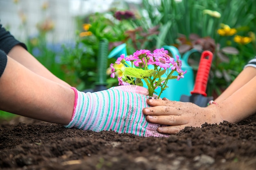
POLYGON ((157 71, 155 70, 143 70, 141 68, 131 68, 131 67, 126 67, 124 70, 124 75, 129 76, 129 77, 135 77, 135 78, 140 78, 144 79, 146 77, 150 77, 152 75, 155 75, 157 71))

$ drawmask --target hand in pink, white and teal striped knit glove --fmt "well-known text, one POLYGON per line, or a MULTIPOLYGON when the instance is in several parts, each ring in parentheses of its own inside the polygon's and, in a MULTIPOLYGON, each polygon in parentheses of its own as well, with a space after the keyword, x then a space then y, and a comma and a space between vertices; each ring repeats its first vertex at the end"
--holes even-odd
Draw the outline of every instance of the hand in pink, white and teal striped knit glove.
POLYGON ((72 119, 67 128, 79 128, 99 132, 113 130, 118 133, 132 133, 143 137, 168 137, 157 132, 159 124, 146 121, 142 109, 148 91, 135 85, 117 86, 105 91, 84 93, 75 92, 75 105, 72 119))

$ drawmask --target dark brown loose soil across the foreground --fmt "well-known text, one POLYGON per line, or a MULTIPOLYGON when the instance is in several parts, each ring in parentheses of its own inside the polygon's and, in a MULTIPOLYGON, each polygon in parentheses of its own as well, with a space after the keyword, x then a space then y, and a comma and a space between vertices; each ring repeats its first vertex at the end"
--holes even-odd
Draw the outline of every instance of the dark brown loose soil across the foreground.
POLYGON ((0 124, 2 170, 255 170, 256 115, 169 138, 67 129, 16 117, 0 124))

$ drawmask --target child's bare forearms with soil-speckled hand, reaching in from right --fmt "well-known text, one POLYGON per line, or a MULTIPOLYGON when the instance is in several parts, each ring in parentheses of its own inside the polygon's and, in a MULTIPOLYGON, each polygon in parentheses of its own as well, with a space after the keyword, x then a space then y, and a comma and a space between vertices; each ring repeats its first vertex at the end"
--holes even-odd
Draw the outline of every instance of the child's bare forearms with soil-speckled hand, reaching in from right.
POLYGON ((143 113, 151 123, 169 125, 158 128, 159 132, 167 134, 175 134, 186 126, 200 127, 205 122, 236 123, 256 113, 255 71, 253 67, 245 68, 230 88, 216 99, 217 105, 200 108, 192 103, 150 99, 148 104, 154 107, 145 108, 143 113))

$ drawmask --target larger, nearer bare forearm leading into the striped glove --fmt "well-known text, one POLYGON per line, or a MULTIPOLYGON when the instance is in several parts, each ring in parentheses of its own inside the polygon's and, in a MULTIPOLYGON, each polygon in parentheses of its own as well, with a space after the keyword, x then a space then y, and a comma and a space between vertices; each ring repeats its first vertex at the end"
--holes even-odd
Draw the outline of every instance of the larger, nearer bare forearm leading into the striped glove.
POLYGON ((11 57, 0 77, 0 89, 0 110, 58 124, 71 120, 74 91, 34 73, 11 57))

